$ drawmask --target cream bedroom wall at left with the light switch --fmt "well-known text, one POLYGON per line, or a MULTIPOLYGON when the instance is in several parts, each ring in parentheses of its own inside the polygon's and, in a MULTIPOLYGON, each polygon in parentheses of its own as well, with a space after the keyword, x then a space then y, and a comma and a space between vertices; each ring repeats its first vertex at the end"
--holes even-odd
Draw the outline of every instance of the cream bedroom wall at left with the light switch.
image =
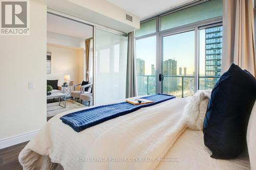
POLYGON ((0 36, 0 144, 46 123, 46 18, 46 5, 30 1, 30 35, 0 36))

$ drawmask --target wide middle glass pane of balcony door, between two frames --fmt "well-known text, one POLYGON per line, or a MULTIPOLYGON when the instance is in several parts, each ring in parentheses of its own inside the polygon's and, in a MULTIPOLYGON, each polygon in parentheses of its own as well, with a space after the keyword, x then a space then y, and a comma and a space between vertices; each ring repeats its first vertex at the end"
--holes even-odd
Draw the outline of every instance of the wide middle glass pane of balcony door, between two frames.
POLYGON ((162 38, 162 93, 183 98, 195 91, 195 31, 162 38))

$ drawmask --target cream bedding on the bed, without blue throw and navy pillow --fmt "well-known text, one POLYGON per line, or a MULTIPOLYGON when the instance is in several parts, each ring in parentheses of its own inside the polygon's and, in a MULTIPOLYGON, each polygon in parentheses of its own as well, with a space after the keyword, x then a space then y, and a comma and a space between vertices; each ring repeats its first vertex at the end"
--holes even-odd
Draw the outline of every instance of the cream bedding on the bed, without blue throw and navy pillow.
POLYGON ((58 114, 20 152, 19 162, 24 169, 250 169, 248 152, 210 158, 200 130, 209 95, 200 90, 78 133, 59 119, 71 111, 58 114))

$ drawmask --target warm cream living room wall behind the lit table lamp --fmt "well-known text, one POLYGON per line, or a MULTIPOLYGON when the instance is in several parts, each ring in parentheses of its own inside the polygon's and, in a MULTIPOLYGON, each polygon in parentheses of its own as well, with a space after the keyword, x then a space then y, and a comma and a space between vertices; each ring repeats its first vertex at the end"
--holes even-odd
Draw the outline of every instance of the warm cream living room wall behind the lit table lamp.
POLYGON ((83 80, 83 48, 73 48, 61 45, 47 44, 47 51, 52 53, 52 73, 47 74, 47 80, 59 80, 61 86, 64 75, 70 75, 75 84, 83 80))

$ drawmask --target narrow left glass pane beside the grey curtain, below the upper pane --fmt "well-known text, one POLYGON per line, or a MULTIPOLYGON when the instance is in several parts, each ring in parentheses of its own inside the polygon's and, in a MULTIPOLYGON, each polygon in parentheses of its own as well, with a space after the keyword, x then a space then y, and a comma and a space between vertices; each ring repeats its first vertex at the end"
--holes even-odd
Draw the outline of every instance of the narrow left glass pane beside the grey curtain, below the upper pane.
POLYGON ((139 95, 156 93, 156 36, 136 40, 139 95))

